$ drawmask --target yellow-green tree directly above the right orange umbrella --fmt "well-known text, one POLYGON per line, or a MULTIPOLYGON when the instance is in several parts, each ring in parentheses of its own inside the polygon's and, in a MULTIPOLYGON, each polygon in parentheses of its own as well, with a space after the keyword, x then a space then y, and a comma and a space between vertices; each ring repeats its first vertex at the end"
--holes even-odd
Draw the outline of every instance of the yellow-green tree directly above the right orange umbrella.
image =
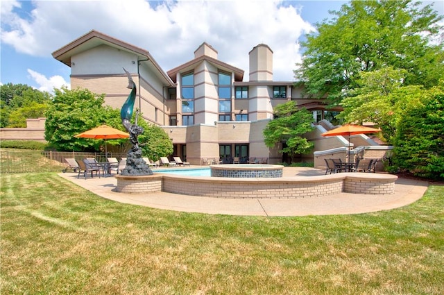
POLYGON ((356 89, 342 100, 344 110, 336 118, 350 124, 373 122, 382 129, 384 140, 393 144, 402 110, 424 91, 420 86, 403 85, 406 72, 391 67, 362 72, 356 89))

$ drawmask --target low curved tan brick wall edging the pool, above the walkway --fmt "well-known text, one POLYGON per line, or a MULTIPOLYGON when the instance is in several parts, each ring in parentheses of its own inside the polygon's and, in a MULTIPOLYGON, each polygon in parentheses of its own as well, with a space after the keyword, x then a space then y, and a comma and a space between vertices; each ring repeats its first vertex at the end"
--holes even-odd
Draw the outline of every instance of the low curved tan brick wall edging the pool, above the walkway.
POLYGON ((343 173, 311 178, 193 178, 187 176, 116 176, 117 191, 129 194, 171 192, 223 199, 296 199, 341 192, 389 195, 397 176, 343 173))

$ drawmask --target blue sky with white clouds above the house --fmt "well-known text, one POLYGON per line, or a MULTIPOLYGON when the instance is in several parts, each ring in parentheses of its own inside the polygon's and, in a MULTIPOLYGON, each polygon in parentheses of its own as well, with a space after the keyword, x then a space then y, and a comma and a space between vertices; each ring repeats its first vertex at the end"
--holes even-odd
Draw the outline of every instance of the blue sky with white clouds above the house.
MULTIPOLYGON (((431 1, 424 1, 430 3, 431 1)), ((257 44, 273 50, 273 80, 293 81, 298 42, 348 1, 311 0, 0 0, 0 83, 52 92, 69 87, 70 68, 51 56, 96 30, 151 53, 167 72, 207 42, 222 62, 243 69, 257 44)), ((443 13, 443 0, 434 1, 443 13)))

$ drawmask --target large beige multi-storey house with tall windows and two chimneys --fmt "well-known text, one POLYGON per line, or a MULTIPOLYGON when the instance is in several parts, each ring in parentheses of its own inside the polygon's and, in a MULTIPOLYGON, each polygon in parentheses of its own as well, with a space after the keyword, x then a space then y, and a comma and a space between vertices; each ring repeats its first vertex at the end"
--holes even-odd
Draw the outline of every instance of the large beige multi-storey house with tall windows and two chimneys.
POLYGON ((104 93, 105 103, 114 108, 128 97, 123 68, 129 71, 137 85, 135 108, 161 126, 173 141, 174 155, 191 164, 234 158, 282 162, 279 147, 268 149, 262 135, 275 106, 295 100, 313 112, 314 121, 338 110, 304 99, 292 81, 273 81, 273 51, 266 44, 248 55, 250 72, 244 81, 244 70, 219 60, 206 42, 194 51, 194 59, 167 72, 148 51, 94 30, 53 52, 71 67, 71 89, 104 93))

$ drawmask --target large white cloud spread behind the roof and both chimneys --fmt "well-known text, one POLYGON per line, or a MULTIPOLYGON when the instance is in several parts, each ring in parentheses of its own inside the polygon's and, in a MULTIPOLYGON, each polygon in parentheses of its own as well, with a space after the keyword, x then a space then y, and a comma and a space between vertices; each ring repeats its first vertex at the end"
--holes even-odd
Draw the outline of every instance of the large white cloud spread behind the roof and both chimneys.
POLYGON ((248 52, 264 43, 274 52, 274 80, 291 81, 300 61, 296 42, 314 30, 291 1, 35 1, 26 17, 13 10, 19 5, 2 2, 1 42, 22 53, 49 56, 95 29, 150 51, 168 71, 207 42, 246 79, 248 52))

